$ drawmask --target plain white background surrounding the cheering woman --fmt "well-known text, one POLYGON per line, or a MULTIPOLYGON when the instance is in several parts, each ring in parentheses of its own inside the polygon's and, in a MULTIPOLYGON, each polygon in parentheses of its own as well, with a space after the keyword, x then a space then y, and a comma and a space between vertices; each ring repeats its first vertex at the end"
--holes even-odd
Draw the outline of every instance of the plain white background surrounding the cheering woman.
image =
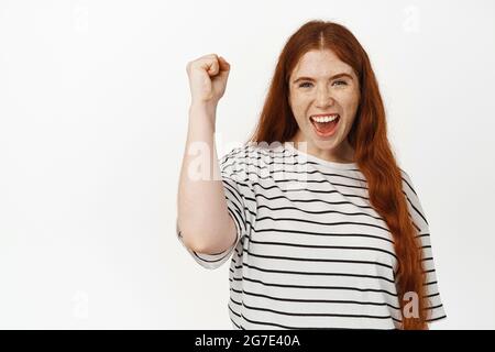
POLYGON ((493 1, 0 2, 0 328, 231 329, 228 264, 175 234, 187 62, 232 65, 219 154, 245 141, 277 56, 346 25, 430 222, 448 319, 495 328, 493 1))

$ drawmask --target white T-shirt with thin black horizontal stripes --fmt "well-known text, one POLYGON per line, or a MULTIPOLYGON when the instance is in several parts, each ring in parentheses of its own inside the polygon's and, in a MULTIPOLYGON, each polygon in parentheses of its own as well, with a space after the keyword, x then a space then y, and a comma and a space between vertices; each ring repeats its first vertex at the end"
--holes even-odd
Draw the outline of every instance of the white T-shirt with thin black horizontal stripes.
MULTIPOLYGON (((228 312, 235 329, 399 328, 393 237, 356 164, 323 161, 292 143, 248 144, 223 156, 220 169, 237 242, 218 254, 187 250, 206 268, 231 258, 228 312)), ((409 176, 402 176, 431 322, 446 312, 428 222, 409 176)), ((182 242, 178 227, 177 235, 182 242)))

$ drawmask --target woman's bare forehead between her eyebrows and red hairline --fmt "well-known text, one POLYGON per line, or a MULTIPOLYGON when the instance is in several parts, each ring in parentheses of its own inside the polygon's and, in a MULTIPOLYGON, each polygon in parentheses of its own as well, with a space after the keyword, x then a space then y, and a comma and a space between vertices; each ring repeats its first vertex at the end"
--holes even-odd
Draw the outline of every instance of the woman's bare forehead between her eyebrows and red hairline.
POLYGON ((352 67, 342 62, 331 50, 309 51, 302 55, 292 73, 293 77, 324 77, 346 73, 355 77, 352 67))

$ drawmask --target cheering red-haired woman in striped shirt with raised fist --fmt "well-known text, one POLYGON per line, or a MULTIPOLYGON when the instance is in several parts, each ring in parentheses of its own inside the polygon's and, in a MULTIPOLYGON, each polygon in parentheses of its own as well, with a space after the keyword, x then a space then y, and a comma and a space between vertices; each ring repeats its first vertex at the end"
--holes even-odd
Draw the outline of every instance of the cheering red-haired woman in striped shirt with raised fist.
POLYGON ((290 36, 250 143, 220 165, 216 108, 230 65, 213 54, 187 72, 186 150, 204 145, 221 177, 193 177, 185 154, 177 234, 205 267, 232 255, 235 328, 427 329, 446 317, 428 222, 348 29, 311 21, 290 36))

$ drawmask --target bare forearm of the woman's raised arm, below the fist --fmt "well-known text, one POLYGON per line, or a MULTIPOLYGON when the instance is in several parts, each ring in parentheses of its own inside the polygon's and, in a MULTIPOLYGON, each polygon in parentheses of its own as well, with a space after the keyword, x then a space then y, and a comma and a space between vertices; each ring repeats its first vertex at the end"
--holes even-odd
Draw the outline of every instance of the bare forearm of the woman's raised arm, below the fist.
POLYGON ((180 169, 177 208, 184 243, 200 253, 218 253, 235 240, 215 147, 217 106, 193 103, 180 169))

